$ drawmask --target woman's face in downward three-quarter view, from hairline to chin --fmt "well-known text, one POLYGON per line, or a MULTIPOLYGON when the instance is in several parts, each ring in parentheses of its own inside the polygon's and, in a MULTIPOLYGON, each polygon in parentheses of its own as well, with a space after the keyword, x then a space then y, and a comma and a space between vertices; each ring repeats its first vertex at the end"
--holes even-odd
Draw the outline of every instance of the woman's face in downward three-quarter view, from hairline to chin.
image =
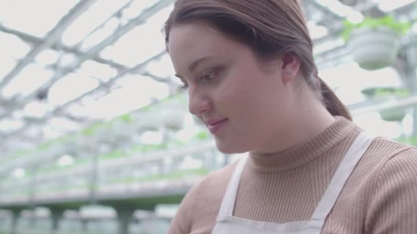
POLYGON ((291 91, 281 59, 261 62, 245 44, 205 23, 174 25, 169 54, 188 86, 189 111, 206 124, 219 151, 261 151, 285 134, 291 91))

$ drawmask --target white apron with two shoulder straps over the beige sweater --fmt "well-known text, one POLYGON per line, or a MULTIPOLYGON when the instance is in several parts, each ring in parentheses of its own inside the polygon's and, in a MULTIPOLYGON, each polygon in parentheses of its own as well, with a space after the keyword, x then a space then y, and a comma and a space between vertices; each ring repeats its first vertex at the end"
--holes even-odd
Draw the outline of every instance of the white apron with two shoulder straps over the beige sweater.
POLYGON ((344 183, 349 175, 353 172, 357 162, 364 155, 370 146, 374 137, 362 132, 359 133, 353 144, 350 146, 346 155, 340 162, 333 178, 329 183, 322 199, 318 203, 318 207, 313 212, 311 219, 308 221, 288 222, 276 224, 272 222, 258 222, 254 220, 246 220, 233 216, 233 207, 235 207, 235 199, 237 187, 241 177, 241 172, 245 166, 248 155, 239 159, 239 162, 233 172, 230 182, 224 194, 222 205, 219 209, 213 234, 318 234, 322 231, 324 220, 329 215, 333 205, 337 200, 344 183))

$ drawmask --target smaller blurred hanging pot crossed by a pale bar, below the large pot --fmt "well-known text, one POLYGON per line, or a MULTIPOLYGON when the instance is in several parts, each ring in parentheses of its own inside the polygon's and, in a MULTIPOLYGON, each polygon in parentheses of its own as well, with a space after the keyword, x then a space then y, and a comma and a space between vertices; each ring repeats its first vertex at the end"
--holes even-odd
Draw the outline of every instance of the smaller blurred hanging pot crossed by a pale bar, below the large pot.
MULTIPOLYGON (((404 88, 393 88, 393 87, 385 87, 385 88, 366 88, 362 90, 362 93, 368 99, 371 99, 375 103, 381 103, 385 101, 390 101, 392 99, 398 99, 404 96, 409 95, 409 91, 404 88)), ((384 109, 379 111, 379 115, 385 121, 402 121, 407 114, 406 107, 393 107, 390 109, 384 109)))

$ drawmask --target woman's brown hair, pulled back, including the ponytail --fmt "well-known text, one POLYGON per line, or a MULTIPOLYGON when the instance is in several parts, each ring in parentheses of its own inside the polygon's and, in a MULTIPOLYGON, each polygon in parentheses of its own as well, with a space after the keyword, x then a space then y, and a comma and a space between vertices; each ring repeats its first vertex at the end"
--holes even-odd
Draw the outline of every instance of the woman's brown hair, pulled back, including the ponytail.
POLYGON ((165 43, 175 23, 202 21, 248 45, 264 59, 296 55, 307 83, 333 116, 352 120, 348 109, 318 77, 313 42, 300 5, 295 0, 177 0, 165 22, 165 43))

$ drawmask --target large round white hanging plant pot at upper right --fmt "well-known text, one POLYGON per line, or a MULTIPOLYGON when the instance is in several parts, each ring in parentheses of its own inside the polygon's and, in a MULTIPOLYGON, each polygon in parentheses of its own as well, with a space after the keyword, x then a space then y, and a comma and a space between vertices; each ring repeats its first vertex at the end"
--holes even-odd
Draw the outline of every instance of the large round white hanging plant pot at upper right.
POLYGON ((398 55, 400 37, 390 27, 362 27, 352 31, 348 47, 361 68, 377 70, 390 66, 398 55))

